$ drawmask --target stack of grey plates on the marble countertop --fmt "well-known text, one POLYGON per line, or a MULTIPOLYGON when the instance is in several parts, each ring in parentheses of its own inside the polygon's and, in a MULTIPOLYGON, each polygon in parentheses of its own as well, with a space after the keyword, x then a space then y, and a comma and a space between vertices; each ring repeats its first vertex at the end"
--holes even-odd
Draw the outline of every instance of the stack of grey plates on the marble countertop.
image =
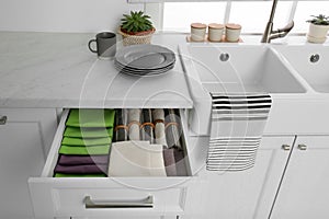
POLYGON ((150 44, 123 47, 114 59, 117 70, 131 76, 166 73, 174 67, 174 62, 175 56, 172 50, 150 44))

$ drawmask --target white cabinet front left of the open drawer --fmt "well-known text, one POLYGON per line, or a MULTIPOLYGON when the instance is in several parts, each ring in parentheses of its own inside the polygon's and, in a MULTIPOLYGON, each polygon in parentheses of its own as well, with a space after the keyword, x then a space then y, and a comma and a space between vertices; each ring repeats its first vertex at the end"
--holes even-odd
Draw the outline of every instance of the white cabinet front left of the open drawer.
POLYGON ((0 108, 0 218, 33 218, 27 178, 44 166, 56 111, 0 108))

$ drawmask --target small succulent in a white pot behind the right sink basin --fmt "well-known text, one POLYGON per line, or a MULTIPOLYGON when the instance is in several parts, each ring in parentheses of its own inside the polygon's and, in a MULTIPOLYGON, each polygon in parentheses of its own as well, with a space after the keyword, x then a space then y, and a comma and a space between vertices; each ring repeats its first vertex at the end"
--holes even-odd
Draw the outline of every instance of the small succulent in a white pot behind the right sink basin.
POLYGON ((326 16, 324 14, 311 16, 311 20, 306 21, 310 23, 307 39, 310 43, 325 43, 329 30, 329 16, 326 16))

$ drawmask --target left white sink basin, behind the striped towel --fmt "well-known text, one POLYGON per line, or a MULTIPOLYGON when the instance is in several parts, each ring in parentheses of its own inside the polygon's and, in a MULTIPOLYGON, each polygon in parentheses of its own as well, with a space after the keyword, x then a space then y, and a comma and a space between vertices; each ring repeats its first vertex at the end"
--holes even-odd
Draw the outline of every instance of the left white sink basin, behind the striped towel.
POLYGON ((291 67, 268 46, 190 44, 186 49, 209 92, 306 92, 291 67))

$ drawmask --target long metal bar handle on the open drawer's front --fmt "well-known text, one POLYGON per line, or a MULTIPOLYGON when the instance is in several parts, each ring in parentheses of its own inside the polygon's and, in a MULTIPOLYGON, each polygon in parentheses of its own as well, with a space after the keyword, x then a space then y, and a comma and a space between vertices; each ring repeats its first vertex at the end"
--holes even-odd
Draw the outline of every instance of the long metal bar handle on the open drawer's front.
POLYGON ((147 196, 140 200, 92 200, 90 196, 84 198, 86 208, 152 208, 154 196, 147 196))

